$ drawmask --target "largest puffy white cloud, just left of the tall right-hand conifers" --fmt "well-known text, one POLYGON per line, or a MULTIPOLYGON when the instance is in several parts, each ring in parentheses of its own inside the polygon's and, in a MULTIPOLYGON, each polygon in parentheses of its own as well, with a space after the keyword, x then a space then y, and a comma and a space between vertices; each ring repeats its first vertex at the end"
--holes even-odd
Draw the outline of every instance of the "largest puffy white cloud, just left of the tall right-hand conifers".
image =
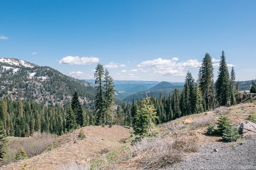
MULTIPOLYGON (((189 59, 185 62, 177 62, 178 58, 172 59, 154 59, 141 62, 138 67, 149 67, 146 71, 153 71, 157 76, 184 76, 185 70, 198 69, 201 62, 198 59, 189 59)), ((143 70, 145 72, 145 70, 143 70)))

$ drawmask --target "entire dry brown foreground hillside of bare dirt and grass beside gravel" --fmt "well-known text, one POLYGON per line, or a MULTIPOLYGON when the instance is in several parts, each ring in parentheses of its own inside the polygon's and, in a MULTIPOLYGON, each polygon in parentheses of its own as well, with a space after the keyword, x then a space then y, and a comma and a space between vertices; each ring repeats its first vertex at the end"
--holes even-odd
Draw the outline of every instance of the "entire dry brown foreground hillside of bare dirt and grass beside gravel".
MULTIPOLYGON (((246 103, 185 116, 158 126, 157 136, 133 144, 135 137, 131 137, 131 128, 83 127, 85 139, 78 139, 79 130, 67 133, 52 141, 51 150, 26 161, 31 162, 28 168, 36 170, 65 170, 67 166, 73 167, 72 170, 167 169, 170 165, 179 166, 179 162, 192 159, 193 153, 199 153, 204 146, 223 143, 221 136, 206 135, 207 126, 214 124, 219 116, 225 114, 236 123, 247 121, 253 111, 254 105, 246 103), (188 118, 192 122, 185 125, 184 120, 188 118), (79 166, 80 169, 76 169, 79 166)), ((229 143, 226 147, 232 149, 229 143)), ((20 170, 18 165, 21 163, 18 161, 0 169, 20 170)))

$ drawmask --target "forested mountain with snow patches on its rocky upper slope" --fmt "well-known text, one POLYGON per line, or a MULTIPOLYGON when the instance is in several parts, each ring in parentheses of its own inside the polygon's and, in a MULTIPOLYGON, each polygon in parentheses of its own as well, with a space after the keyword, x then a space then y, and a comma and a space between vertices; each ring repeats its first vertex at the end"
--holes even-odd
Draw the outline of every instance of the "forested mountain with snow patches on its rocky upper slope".
POLYGON ((38 102, 47 106, 67 105, 76 89, 80 102, 91 107, 94 85, 47 67, 15 58, 0 57, 0 97, 38 102))

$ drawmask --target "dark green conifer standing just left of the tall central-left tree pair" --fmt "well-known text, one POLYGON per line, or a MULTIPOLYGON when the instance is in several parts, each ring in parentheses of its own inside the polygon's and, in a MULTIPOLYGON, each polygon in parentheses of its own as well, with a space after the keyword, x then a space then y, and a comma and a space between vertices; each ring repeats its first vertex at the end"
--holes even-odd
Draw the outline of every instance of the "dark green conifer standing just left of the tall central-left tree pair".
POLYGON ((75 90, 75 93, 73 94, 71 107, 74 112, 75 118, 76 118, 76 124, 80 125, 80 127, 84 126, 84 112, 82 110, 81 103, 79 102, 79 97, 77 94, 77 91, 75 90))

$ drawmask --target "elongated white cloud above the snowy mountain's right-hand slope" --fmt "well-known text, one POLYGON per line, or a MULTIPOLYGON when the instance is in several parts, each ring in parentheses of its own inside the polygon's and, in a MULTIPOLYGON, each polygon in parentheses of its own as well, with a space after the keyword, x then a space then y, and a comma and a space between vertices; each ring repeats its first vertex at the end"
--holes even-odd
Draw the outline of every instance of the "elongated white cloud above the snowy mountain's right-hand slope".
POLYGON ((72 57, 72 56, 67 56, 62 58, 59 61, 59 64, 70 64, 70 65, 85 65, 85 64, 93 64, 99 62, 99 58, 96 57, 72 57))

